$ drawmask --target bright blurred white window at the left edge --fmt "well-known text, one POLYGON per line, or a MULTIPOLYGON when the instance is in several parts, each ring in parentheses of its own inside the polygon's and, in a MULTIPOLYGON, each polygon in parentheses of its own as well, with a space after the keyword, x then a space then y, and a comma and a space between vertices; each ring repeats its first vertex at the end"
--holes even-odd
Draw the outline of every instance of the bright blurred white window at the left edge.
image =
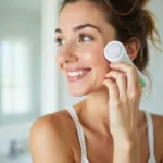
POLYGON ((9 41, 1 42, 0 47, 2 114, 27 113, 30 108, 28 48, 9 41))

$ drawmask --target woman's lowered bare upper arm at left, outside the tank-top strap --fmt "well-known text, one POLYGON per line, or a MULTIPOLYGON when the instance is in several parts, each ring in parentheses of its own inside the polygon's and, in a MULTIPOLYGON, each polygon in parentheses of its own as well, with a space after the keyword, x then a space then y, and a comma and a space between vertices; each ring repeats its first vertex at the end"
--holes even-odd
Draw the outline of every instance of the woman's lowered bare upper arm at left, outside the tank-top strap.
POLYGON ((63 136, 58 117, 47 115, 36 121, 30 129, 33 163, 73 163, 71 148, 63 136))

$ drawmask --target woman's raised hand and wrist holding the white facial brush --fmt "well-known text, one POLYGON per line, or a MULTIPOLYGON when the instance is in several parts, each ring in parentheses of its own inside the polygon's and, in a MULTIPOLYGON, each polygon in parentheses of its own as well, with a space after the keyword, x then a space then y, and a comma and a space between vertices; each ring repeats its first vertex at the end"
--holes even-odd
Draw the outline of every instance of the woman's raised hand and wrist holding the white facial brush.
POLYGON ((103 82, 109 89, 110 130, 118 142, 133 141, 138 136, 137 112, 142 88, 133 65, 111 63, 111 68, 103 82))

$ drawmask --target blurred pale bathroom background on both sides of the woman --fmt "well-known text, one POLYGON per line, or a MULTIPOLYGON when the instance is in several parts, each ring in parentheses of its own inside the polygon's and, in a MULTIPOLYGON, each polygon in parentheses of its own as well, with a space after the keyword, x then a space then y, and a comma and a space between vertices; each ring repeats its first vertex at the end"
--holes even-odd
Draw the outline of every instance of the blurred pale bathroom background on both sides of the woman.
MULTIPOLYGON (((163 40, 162 0, 149 8, 163 40)), ((0 0, 0 163, 32 163, 29 129, 39 116, 82 100, 55 65, 58 0, 0 0)), ((163 115, 163 53, 150 46, 153 88, 140 108, 163 115)), ((143 92, 146 95, 146 92, 143 92)))

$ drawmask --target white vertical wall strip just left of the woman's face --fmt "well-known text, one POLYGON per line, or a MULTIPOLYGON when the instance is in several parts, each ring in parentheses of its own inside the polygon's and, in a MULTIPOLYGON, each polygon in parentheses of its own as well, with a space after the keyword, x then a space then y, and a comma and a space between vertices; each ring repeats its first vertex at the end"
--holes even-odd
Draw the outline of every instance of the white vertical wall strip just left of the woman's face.
POLYGON ((54 27, 58 0, 42 0, 41 12, 41 114, 59 110, 59 74, 55 64, 54 27))

